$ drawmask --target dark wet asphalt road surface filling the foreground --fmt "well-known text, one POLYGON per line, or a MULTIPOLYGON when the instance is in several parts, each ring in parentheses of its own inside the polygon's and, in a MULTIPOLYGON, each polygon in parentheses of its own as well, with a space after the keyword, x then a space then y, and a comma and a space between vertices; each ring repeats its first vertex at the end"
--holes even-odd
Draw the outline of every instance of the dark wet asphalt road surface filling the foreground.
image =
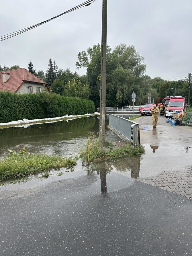
POLYGON ((100 171, 1 192, 0 255, 191 255, 191 200, 100 171))

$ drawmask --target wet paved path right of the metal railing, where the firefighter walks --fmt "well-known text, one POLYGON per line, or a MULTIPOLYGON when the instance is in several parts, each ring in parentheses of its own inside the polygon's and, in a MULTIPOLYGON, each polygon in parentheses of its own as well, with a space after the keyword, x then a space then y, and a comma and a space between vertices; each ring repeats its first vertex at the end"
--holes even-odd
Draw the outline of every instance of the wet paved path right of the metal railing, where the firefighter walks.
POLYGON ((149 157, 146 152, 141 161, 140 177, 135 180, 192 199, 192 157, 191 152, 186 154, 186 148, 192 146, 192 127, 171 127, 165 117, 159 116, 158 119, 156 132, 152 130, 151 116, 136 119, 141 131, 143 126, 148 129, 148 133, 142 133, 142 143, 158 145, 159 152, 156 150, 158 155, 155 153, 149 157))

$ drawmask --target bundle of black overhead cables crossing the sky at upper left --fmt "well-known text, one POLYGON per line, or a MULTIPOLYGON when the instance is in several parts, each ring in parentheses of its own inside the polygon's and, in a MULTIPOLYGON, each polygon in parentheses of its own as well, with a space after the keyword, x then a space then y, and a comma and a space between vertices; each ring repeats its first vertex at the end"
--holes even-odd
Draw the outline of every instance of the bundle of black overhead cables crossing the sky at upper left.
POLYGON ((75 10, 80 9, 80 8, 82 8, 82 7, 88 6, 88 5, 90 5, 91 3, 95 2, 95 1, 96 1, 96 0, 88 0, 88 1, 85 1, 84 3, 81 3, 81 4, 77 5, 77 6, 75 6, 75 7, 71 8, 71 9, 69 9, 68 11, 65 11, 65 12, 63 12, 63 13, 60 13, 60 14, 58 14, 58 15, 56 15, 56 16, 50 18, 50 19, 47 19, 47 20, 43 21, 43 22, 37 23, 37 24, 32 25, 32 26, 27 27, 27 28, 23 28, 23 29, 17 30, 17 31, 15 31, 15 32, 6 34, 6 35, 4 35, 4 36, 0 36, 0 42, 3 41, 3 40, 9 39, 9 38, 11 38, 11 37, 13 37, 13 36, 17 36, 17 35, 19 35, 19 34, 22 34, 22 33, 26 32, 26 31, 29 31, 29 30, 31 30, 31 29, 33 29, 33 28, 36 28, 36 27, 38 27, 38 26, 40 26, 40 25, 42 25, 42 24, 45 24, 46 22, 49 22, 49 21, 51 21, 51 20, 53 20, 53 19, 56 19, 56 18, 58 18, 58 17, 60 17, 60 16, 62 16, 62 15, 64 15, 64 14, 66 14, 66 13, 69 13, 69 12, 71 12, 71 11, 75 11, 75 10))

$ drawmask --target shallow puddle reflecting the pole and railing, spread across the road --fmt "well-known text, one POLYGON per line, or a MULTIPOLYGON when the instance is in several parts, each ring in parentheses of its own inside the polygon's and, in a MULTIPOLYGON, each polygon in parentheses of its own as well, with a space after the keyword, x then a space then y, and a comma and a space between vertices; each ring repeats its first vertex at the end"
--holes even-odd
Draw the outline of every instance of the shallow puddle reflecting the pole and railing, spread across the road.
MULTIPOLYGON (((30 189, 32 187, 46 185, 53 181, 62 182, 64 179, 74 179, 79 177, 79 175, 98 176, 101 175, 101 170, 109 175, 111 172, 115 172, 132 179, 137 179, 145 175, 150 169, 150 175, 153 176, 153 168, 157 169, 156 166, 162 167, 159 169, 159 172, 167 167, 166 165, 164 166, 164 157, 166 155, 170 155, 170 164, 184 156, 187 157, 191 164, 192 150, 190 146, 182 147, 180 145, 169 145, 166 143, 145 144, 144 146, 146 153, 142 157, 122 157, 120 159, 98 161, 95 163, 82 163, 78 160, 77 166, 72 173, 66 173, 66 169, 61 168, 58 171, 51 171, 49 177, 42 177, 42 174, 37 174, 11 181, 11 183, 10 181, 5 181, 0 183, 0 191, 30 189), (151 161, 154 161, 155 165, 151 166, 151 161)), ((105 180, 105 177, 102 179, 105 180)))

